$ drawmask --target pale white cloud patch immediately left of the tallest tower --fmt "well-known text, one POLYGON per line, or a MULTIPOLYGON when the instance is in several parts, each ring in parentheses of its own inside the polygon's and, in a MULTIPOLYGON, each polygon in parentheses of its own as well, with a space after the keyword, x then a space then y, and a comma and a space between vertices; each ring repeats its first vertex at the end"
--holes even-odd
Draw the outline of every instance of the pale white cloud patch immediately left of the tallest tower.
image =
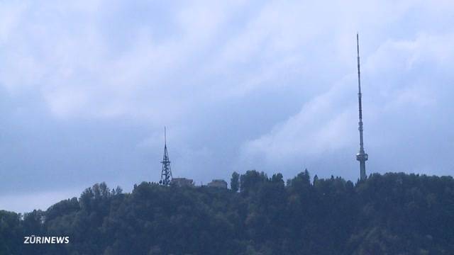
POLYGON ((280 123, 262 137, 244 145, 248 154, 264 154, 269 161, 284 161, 289 158, 323 157, 323 154, 336 149, 344 149, 351 144, 354 116, 354 101, 345 99, 345 84, 333 87, 327 93, 305 103, 301 111, 280 123))

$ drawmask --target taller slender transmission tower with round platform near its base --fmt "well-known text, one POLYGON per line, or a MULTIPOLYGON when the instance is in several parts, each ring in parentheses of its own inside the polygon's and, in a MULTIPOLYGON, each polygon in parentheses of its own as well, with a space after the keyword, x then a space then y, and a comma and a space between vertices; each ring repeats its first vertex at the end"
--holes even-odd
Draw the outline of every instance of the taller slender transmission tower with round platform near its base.
POLYGON ((360 152, 356 154, 356 160, 360 162, 360 180, 366 179, 366 161, 369 155, 364 151, 364 141, 362 139, 362 94, 361 94, 361 76, 360 76, 360 37, 356 34, 356 49, 358 52, 358 111, 360 115, 360 122, 358 123, 358 130, 360 130, 360 152))

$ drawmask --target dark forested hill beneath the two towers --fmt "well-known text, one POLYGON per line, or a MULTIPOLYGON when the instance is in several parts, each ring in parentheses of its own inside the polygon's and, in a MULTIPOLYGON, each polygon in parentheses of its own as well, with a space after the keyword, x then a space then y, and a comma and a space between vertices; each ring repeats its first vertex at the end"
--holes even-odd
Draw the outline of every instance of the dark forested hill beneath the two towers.
POLYGON ((0 254, 453 254, 454 180, 374 174, 353 184, 257 171, 232 189, 105 183, 45 212, 0 211, 0 254), (239 191, 236 191, 239 188, 239 191), (69 244, 23 244, 24 237, 69 244))

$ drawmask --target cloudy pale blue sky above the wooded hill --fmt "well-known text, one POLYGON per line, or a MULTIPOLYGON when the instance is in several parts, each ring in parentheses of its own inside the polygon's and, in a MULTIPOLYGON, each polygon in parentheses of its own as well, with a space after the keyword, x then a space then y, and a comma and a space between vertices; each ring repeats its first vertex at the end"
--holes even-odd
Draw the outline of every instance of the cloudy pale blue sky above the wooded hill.
POLYGON ((1 1, 0 210, 94 183, 454 169, 452 1, 1 1))

